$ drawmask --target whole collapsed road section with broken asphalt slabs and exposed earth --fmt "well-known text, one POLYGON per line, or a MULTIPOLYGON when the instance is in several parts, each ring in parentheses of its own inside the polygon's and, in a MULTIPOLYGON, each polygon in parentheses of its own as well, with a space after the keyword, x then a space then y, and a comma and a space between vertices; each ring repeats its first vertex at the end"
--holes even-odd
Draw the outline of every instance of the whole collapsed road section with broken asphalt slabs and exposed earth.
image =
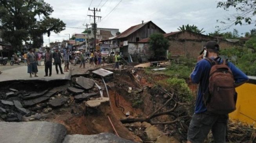
MULTIPOLYGON (((143 69, 93 69, 70 80, 1 83, 0 138, 3 143, 181 143, 194 101, 182 88, 159 86, 167 78, 143 69)), ((253 131, 246 130, 243 139, 253 131)))

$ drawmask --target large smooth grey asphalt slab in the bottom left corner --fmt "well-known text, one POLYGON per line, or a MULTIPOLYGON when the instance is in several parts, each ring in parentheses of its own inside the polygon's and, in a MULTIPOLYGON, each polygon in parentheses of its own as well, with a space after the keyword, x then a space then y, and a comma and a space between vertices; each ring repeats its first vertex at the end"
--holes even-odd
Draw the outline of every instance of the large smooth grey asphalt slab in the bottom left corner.
POLYGON ((0 122, 1 143, 62 143, 67 130, 51 122, 0 122))

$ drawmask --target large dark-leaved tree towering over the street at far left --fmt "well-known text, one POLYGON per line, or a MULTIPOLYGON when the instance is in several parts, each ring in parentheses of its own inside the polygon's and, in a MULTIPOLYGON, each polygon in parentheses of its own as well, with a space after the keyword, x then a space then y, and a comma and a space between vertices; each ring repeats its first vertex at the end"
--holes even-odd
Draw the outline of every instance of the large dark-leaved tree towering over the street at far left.
POLYGON ((50 18, 53 8, 44 0, 0 0, 0 29, 5 41, 13 48, 22 48, 22 42, 33 41, 34 47, 42 43, 42 35, 65 29, 60 19, 50 18), (38 16, 38 18, 36 18, 38 16))

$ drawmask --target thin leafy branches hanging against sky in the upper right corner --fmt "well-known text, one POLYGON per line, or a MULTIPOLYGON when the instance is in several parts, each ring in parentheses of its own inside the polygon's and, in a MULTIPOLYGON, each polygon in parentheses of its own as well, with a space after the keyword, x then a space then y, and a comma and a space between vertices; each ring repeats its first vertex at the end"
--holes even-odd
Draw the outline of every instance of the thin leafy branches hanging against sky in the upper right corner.
POLYGON ((236 9, 236 14, 229 15, 229 18, 220 21, 223 24, 227 24, 227 28, 237 24, 255 23, 255 19, 253 20, 256 14, 255 0, 224 0, 218 2, 217 8, 223 8, 226 11, 231 8, 236 9))

